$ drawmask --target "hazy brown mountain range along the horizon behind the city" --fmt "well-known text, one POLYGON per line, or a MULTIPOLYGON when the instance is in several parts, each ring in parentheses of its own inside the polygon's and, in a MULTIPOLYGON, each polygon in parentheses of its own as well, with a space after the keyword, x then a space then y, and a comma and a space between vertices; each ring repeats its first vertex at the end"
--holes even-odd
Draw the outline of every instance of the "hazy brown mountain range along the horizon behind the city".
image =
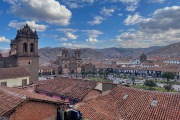
MULTIPOLYGON (((39 49, 40 64, 50 63, 57 59, 57 56, 65 48, 61 47, 45 47, 39 49)), ((70 53, 75 49, 68 48, 70 53)), ((170 44, 167 46, 153 46, 149 48, 104 48, 104 49, 91 49, 82 48, 80 49, 82 53, 82 58, 86 59, 104 59, 104 58, 131 58, 136 59, 142 53, 145 53, 148 57, 180 57, 180 42, 170 44)))

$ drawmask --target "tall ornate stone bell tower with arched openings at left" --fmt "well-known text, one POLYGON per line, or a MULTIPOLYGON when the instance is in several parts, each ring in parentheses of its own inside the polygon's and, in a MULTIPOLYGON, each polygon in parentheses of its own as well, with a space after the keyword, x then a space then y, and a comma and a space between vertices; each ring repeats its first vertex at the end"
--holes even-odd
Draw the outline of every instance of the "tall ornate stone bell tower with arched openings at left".
POLYGON ((38 39, 36 30, 32 31, 26 24, 11 41, 11 52, 16 52, 17 66, 24 67, 30 73, 30 83, 38 81, 38 39))

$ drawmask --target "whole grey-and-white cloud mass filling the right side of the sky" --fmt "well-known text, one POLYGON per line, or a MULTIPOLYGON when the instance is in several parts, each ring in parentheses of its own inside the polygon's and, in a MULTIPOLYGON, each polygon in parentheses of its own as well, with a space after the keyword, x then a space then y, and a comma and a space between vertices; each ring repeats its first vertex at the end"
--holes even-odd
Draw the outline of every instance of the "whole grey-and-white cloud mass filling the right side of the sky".
POLYGON ((126 25, 138 24, 137 30, 127 30, 114 41, 121 47, 162 46, 180 42, 180 6, 155 10, 149 18, 135 13, 124 21, 126 25))

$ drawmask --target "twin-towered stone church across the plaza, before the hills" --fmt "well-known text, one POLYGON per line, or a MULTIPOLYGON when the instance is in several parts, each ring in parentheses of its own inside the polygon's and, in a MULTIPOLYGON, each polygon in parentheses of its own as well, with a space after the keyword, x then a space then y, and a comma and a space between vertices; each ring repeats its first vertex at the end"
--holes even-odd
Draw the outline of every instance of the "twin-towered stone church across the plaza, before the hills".
POLYGON ((58 57, 61 74, 80 74, 81 73, 81 51, 75 50, 75 54, 70 54, 67 49, 62 50, 62 55, 58 57))

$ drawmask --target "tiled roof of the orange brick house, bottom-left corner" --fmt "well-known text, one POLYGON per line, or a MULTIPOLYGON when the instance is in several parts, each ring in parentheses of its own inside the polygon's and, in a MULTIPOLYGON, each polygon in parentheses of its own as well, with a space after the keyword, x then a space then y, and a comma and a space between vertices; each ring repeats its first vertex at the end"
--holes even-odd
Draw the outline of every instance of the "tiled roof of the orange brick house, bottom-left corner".
POLYGON ((63 101, 51 97, 29 92, 18 88, 0 86, 0 116, 10 113, 25 101, 38 101, 53 104, 63 104, 63 101))

